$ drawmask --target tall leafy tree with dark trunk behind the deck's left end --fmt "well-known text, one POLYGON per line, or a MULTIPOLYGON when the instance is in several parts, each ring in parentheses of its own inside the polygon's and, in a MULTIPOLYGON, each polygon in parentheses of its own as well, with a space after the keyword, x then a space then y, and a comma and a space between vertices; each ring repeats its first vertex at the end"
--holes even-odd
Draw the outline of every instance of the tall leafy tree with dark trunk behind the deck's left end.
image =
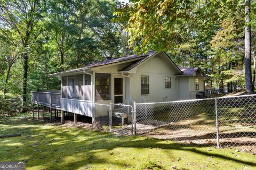
MULTIPOLYGON (((23 47, 23 112, 27 111, 28 60, 31 37, 36 39, 35 27, 42 19, 42 2, 40 0, 3 0, 0 2, 0 24, 3 31, 15 30, 23 47)), ((7 35, 7 37, 11 35, 7 35)), ((9 37, 10 38, 10 37, 9 37)))

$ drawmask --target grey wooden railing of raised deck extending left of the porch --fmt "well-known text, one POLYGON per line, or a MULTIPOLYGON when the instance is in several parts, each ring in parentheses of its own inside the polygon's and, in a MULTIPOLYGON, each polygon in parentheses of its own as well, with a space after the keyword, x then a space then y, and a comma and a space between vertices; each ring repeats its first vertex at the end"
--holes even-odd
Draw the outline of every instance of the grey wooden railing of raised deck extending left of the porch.
POLYGON ((61 106, 61 94, 59 91, 32 91, 31 100, 35 104, 40 104, 50 107, 60 107, 61 106))

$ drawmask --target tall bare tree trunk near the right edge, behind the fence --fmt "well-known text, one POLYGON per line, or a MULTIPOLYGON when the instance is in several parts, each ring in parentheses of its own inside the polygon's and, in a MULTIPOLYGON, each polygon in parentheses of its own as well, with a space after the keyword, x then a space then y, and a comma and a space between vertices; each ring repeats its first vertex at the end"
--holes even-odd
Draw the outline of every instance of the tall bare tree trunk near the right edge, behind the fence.
POLYGON ((250 0, 245 0, 245 91, 252 93, 250 0))

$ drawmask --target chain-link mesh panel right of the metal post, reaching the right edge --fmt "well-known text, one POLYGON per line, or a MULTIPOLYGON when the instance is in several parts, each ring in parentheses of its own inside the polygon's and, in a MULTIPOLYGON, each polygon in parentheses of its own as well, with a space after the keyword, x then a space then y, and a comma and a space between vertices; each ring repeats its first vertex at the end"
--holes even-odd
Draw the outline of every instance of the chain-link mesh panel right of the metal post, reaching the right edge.
POLYGON ((218 98, 220 146, 256 146, 256 96, 218 98))

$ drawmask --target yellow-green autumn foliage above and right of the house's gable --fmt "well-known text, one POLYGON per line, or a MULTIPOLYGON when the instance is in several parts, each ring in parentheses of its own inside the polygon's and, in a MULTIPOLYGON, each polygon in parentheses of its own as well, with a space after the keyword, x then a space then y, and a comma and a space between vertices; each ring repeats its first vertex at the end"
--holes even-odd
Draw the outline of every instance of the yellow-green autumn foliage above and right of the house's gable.
MULTIPOLYGON (((134 0, 119 4, 116 22, 127 22, 129 45, 134 52, 165 50, 183 67, 200 66, 215 85, 222 80, 244 82, 244 1, 134 0)), ((251 2, 252 35, 255 1, 251 2)), ((255 54, 255 36, 252 48, 255 54)))

